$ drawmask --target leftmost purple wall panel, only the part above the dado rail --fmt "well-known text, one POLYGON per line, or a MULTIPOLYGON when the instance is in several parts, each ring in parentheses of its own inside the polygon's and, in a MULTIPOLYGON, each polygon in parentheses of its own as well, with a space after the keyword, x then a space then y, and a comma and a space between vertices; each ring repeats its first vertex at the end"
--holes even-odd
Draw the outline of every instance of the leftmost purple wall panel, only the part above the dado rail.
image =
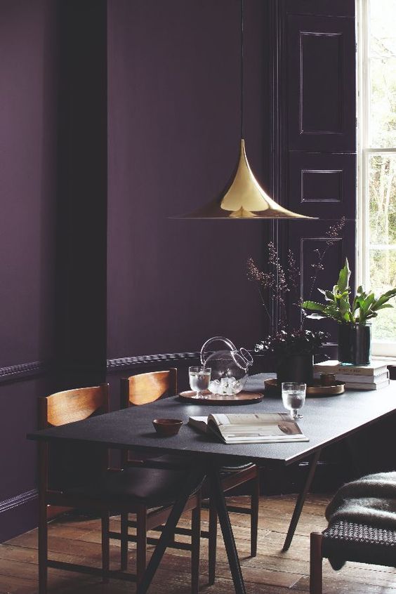
POLYGON ((51 355, 54 3, 0 2, 0 367, 51 355))

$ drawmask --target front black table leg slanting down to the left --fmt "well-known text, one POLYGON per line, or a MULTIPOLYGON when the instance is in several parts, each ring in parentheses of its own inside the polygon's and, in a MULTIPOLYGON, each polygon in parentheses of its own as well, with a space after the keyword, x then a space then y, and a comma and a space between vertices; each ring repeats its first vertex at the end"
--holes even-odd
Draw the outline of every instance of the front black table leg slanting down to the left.
POLYGON ((175 505, 171 513, 169 514, 168 520, 166 520, 166 524, 164 529, 161 532, 161 536, 159 537, 159 541, 154 548, 154 552, 152 553, 152 557, 150 562, 148 563, 145 573, 143 575, 142 581, 138 584, 138 588, 136 589, 136 594, 146 594, 148 588, 150 587, 150 583, 154 577, 155 572, 158 569, 159 563, 161 562, 162 557, 164 556, 166 547, 168 546, 169 542, 173 538, 173 534, 180 519, 180 515, 183 513, 183 509, 185 504, 187 503, 187 499, 189 498, 192 491, 197 487, 197 484, 204 479, 205 471, 201 467, 197 467, 190 472, 187 476, 187 480, 183 483, 180 489, 180 495, 176 500, 175 505))

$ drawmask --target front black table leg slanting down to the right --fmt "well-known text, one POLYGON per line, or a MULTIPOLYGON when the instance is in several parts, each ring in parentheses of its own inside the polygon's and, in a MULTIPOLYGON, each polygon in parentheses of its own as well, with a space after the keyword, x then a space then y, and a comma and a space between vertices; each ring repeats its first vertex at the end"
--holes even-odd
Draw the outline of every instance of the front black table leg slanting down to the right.
POLYGON ((223 540, 225 550, 227 551, 232 580, 234 581, 235 593, 246 594, 244 578, 242 576, 241 566, 239 565, 237 547, 235 546, 234 534, 232 533, 230 516, 227 512, 224 491, 221 486, 220 476, 216 466, 210 467, 208 478, 211 485, 211 498, 213 498, 216 503, 218 520, 220 522, 221 532, 223 533, 223 540))

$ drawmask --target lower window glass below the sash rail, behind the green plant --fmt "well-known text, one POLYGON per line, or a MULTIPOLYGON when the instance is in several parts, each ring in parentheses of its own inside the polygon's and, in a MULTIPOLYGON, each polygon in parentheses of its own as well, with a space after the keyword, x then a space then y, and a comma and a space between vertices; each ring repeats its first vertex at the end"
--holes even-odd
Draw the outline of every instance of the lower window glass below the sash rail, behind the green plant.
MULTIPOLYGON (((378 297, 396 286, 396 154, 371 154, 368 165, 369 286, 378 297)), ((396 341, 396 308, 372 323, 374 338, 396 341)))

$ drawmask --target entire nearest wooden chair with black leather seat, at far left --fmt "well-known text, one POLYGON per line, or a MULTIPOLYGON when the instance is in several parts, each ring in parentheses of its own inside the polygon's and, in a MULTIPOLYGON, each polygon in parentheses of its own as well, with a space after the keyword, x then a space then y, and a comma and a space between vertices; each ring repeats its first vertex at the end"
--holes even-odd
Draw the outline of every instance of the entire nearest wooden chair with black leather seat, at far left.
MULTIPOLYGON (((80 388, 58 392, 39 399, 39 421, 41 428, 81 421, 109 410, 108 385, 80 388)), ((100 575, 107 582, 110 577, 126 581, 141 581, 146 567, 146 546, 153 539, 147 539, 147 530, 166 522, 178 496, 180 484, 185 480, 183 470, 155 468, 129 468, 110 470, 107 449, 81 449, 67 466, 60 468, 62 461, 70 458, 70 446, 62 451, 49 449, 39 444, 39 594, 46 594, 48 567, 100 575), (54 456, 56 455, 56 457, 54 456), (89 459, 90 458, 90 459, 89 459), (82 472, 74 473, 75 466, 82 461, 82 472), (55 471, 55 479, 48 467, 55 471), (95 470, 95 475, 91 472, 95 470), (55 483, 55 484, 54 484, 55 483), (102 519, 102 569, 86 567, 48 559, 48 506, 62 508, 84 508, 99 513, 102 519), (110 511, 122 514, 136 514, 137 572, 125 574, 110 571, 110 511)), ((192 553, 192 593, 198 592, 199 580, 199 535, 201 494, 200 485, 187 501, 185 511, 192 512, 191 544, 183 548, 192 553)))

